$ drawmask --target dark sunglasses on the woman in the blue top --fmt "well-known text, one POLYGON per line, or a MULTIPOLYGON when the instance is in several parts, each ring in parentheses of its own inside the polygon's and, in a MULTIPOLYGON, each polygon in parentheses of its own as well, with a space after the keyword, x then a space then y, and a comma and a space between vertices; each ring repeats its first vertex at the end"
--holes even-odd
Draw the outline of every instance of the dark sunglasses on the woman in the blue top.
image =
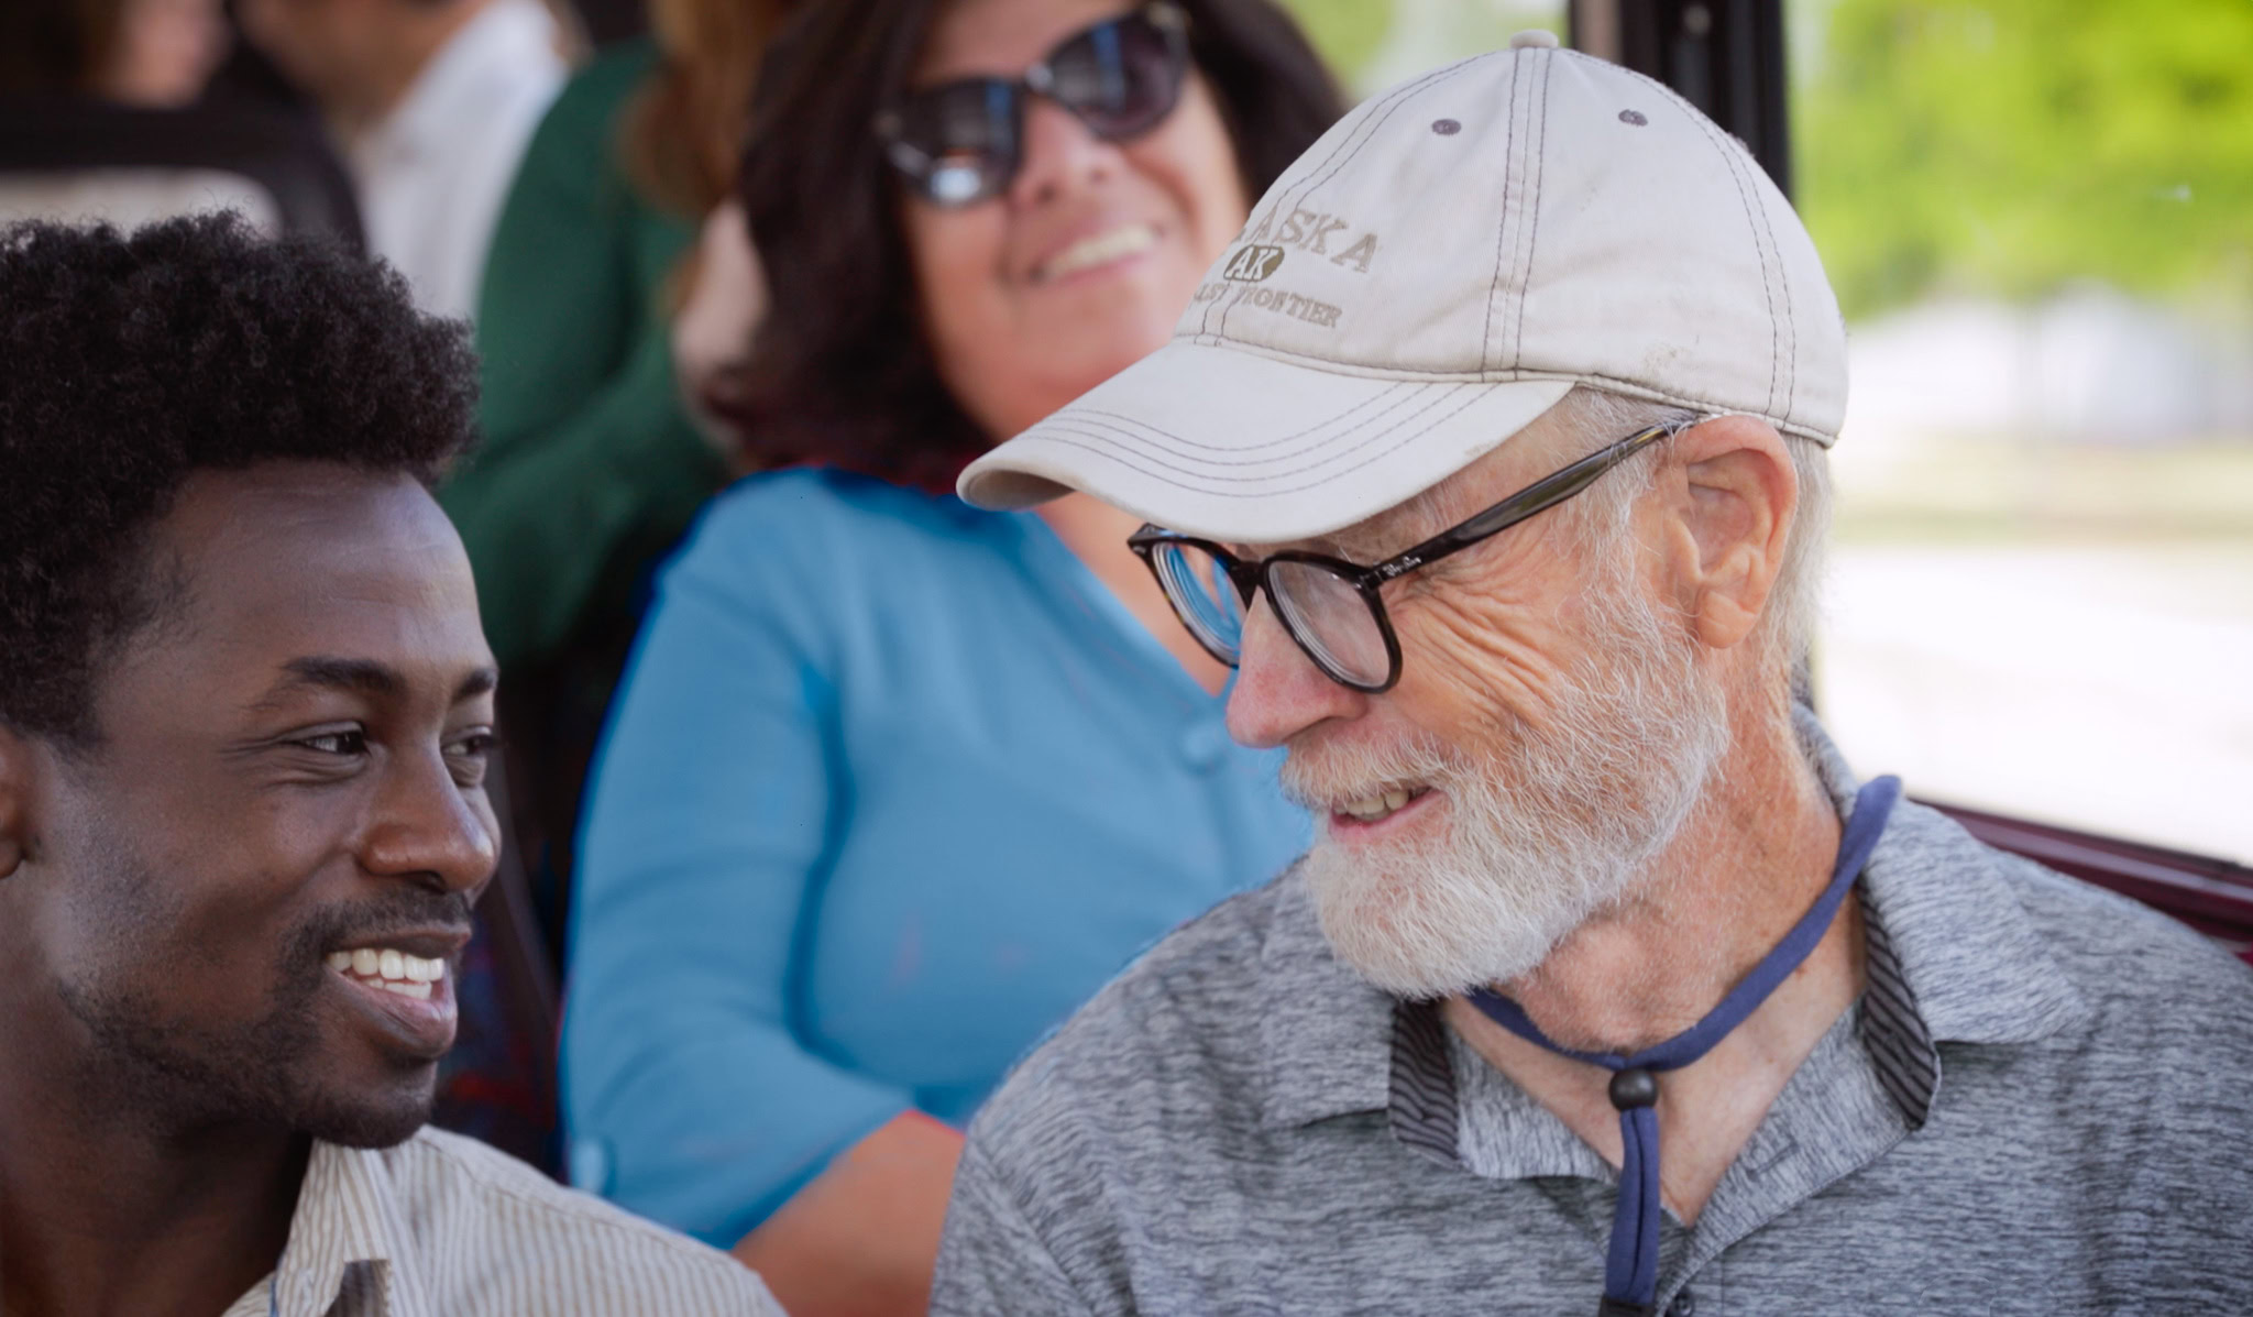
POLYGON ((1190 18, 1156 0, 1075 32, 1023 77, 969 77, 906 92, 876 115, 885 160, 933 205, 1009 189, 1025 162, 1025 97, 1048 97, 1106 142, 1140 138, 1181 99, 1190 18))

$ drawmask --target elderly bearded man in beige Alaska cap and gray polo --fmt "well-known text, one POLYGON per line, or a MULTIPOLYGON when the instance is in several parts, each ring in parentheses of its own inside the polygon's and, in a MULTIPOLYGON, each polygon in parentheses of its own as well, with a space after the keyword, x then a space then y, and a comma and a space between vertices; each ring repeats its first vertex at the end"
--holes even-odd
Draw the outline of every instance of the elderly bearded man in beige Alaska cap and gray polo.
POLYGON ((985 1107, 935 1310, 2242 1310, 2253 976, 1793 708, 1836 304, 1739 144, 1552 47, 1350 115, 964 474, 1167 528, 1327 828, 985 1107))

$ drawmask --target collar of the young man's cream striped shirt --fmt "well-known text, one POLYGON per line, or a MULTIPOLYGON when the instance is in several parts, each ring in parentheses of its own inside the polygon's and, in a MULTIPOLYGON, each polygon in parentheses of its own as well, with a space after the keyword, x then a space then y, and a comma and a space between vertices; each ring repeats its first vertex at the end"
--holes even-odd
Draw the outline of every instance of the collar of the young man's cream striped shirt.
POLYGON ((351 1288, 381 1317, 437 1317, 412 1240, 383 1155, 315 1141, 275 1267, 275 1310, 320 1317, 351 1288))

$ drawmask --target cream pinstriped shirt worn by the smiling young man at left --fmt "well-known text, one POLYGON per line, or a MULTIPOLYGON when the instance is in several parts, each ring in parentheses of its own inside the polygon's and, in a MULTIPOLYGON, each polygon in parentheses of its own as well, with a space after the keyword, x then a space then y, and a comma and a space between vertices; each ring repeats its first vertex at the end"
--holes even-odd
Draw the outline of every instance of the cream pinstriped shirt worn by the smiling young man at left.
POLYGON ((313 1143, 282 1265, 225 1317, 782 1317, 696 1240, 475 1139, 313 1143))

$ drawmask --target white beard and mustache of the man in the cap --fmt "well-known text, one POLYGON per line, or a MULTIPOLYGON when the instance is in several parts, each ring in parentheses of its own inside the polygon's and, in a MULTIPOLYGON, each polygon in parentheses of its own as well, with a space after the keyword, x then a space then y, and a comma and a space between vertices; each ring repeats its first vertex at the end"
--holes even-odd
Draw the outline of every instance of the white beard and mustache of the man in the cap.
POLYGON ((1428 837, 1350 850, 1325 834, 1302 861, 1332 949, 1386 992, 1435 999, 1532 972, 1636 893, 1728 753, 1726 701, 1681 622, 1624 573, 1591 595, 1600 658, 1568 672, 1543 728, 1512 717, 1510 744, 1487 753, 1437 737, 1291 749, 1284 785, 1316 810, 1386 783, 1446 794, 1428 837))

